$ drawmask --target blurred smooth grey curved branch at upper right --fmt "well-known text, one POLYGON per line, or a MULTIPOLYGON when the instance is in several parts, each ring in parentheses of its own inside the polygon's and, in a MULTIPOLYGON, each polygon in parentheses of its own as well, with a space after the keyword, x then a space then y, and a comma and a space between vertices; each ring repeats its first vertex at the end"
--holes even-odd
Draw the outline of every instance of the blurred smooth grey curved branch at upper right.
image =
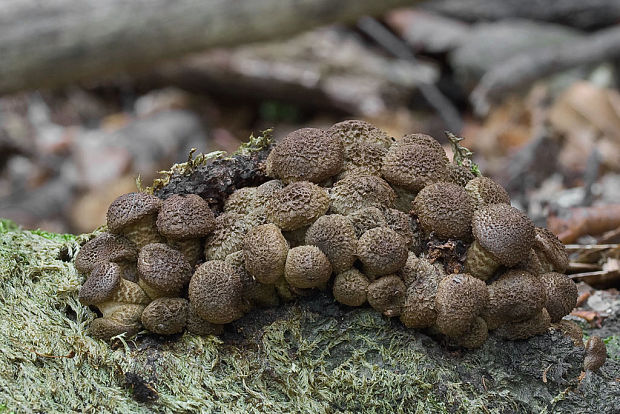
POLYGON ((620 27, 600 30, 579 40, 522 53, 489 70, 471 93, 475 111, 486 114, 507 92, 563 70, 620 57, 620 27))

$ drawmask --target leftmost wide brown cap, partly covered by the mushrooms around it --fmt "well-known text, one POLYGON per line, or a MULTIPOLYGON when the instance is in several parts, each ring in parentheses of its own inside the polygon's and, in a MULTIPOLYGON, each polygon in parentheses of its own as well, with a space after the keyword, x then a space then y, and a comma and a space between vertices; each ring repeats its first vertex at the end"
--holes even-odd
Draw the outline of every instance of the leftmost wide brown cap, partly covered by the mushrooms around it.
POLYGON ((89 274, 102 261, 135 262, 138 249, 129 239, 111 233, 101 233, 87 241, 75 257, 75 268, 81 274, 89 274))

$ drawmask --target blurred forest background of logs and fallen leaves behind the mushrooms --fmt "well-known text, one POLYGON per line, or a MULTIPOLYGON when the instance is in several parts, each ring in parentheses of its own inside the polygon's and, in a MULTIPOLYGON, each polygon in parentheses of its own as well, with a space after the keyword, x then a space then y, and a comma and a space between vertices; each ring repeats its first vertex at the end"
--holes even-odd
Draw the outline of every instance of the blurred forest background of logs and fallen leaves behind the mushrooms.
POLYGON ((355 118, 463 136, 537 224, 620 241, 617 0, 73 3, 0 7, 0 217, 24 228, 89 232, 191 148, 355 118))

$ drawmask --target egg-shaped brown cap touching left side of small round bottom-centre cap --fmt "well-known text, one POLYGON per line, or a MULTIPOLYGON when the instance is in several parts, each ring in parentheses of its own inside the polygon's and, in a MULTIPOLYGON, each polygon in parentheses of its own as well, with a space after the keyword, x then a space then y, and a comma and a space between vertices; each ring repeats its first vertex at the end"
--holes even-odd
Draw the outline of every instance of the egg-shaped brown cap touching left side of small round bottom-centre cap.
POLYGON ((275 283, 284 275, 288 243, 275 224, 254 227, 243 240, 245 269, 261 283, 275 283))

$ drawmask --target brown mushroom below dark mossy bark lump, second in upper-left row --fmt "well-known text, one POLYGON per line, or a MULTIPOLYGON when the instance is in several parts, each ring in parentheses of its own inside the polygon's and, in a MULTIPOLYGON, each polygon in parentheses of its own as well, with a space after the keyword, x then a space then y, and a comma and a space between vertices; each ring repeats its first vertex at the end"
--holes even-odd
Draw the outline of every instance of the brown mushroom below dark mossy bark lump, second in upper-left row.
POLYGON ((168 244, 195 266, 202 254, 201 238, 215 228, 209 204, 196 194, 175 194, 163 201, 157 215, 157 230, 168 244))

